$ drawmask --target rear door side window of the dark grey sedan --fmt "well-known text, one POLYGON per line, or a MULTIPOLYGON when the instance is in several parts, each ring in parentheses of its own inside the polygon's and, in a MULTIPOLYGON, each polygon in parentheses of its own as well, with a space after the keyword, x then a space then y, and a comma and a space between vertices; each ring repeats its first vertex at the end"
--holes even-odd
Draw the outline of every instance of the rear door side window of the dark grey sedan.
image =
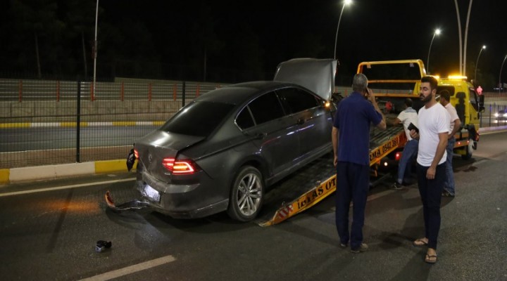
POLYGON ((252 100, 248 107, 257 125, 284 116, 282 105, 274 92, 266 93, 252 100))

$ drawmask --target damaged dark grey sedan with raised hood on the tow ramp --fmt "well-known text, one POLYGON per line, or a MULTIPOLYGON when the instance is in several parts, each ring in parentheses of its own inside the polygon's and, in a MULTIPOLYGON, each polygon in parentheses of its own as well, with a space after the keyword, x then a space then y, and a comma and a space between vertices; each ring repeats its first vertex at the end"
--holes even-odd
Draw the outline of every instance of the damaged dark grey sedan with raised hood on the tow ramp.
POLYGON ((227 211, 256 218, 266 188, 332 152, 336 60, 294 59, 274 81, 210 91, 136 141, 139 200, 113 209, 152 208, 173 218, 227 211))

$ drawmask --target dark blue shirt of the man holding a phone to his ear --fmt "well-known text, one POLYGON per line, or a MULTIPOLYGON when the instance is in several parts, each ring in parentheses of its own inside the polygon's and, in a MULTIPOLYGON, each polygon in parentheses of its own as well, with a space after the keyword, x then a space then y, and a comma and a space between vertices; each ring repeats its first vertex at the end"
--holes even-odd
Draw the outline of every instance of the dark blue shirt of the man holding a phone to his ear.
POLYGON ((339 129, 338 161, 370 166, 370 123, 380 122, 382 115, 361 93, 340 101, 333 124, 339 129))

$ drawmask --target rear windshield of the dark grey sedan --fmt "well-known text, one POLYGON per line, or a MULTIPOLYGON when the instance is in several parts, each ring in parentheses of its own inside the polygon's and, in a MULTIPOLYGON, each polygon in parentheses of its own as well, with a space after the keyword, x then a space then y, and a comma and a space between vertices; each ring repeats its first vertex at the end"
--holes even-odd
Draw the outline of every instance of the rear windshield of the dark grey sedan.
POLYGON ((182 108, 166 122, 161 130, 189 136, 209 134, 230 113, 234 105, 227 103, 194 102, 182 108))

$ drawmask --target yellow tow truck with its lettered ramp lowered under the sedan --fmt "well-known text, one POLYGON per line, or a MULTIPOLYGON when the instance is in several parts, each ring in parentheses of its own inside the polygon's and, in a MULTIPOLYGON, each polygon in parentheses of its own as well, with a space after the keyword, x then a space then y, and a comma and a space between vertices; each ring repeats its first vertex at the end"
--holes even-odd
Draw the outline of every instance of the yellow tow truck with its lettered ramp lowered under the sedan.
MULTIPOLYGON (((420 79, 426 76, 422 60, 389 60, 364 62, 358 65, 358 73, 368 77, 368 87, 373 90, 381 110, 389 118, 396 118, 404 109, 406 98, 413 98, 415 110, 423 104, 419 99, 420 79)), ((484 111, 484 98, 477 96, 474 87, 464 77, 440 78, 439 89, 451 93, 451 104, 462 119, 462 129, 456 133, 455 153, 464 159, 472 156, 479 141, 479 112, 484 111), (461 106, 461 107, 460 107, 461 106)), ((331 137, 331 136, 330 136, 331 137)), ((396 168, 393 162, 401 157, 406 143, 403 126, 389 126, 381 131, 370 129, 370 185, 374 186, 392 176, 396 168)), ((333 155, 325 155, 297 171, 294 176, 277 183, 266 192, 261 214, 254 220, 259 226, 273 226, 331 195, 336 190, 336 169, 333 155)), ((142 202, 115 204, 110 192, 106 192, 108 207, 115 210, 142 209, 142 202)))

